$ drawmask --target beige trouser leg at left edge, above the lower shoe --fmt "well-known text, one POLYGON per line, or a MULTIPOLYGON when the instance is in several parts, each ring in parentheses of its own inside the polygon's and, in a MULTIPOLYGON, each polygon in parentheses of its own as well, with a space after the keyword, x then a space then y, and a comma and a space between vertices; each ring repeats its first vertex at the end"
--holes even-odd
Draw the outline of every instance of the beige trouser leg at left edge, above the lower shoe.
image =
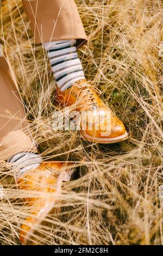
POLYGON ((9 66, 0 57, 0 161, 22 151, 36 151, 28 125, 9 66))

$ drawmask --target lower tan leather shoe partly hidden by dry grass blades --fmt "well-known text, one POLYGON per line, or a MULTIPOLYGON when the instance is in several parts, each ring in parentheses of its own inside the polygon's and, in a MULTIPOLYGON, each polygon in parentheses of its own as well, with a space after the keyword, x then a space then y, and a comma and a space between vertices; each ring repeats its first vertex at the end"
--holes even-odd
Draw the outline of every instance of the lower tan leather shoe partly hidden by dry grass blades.
POLYGON ((60 192, 62 181, 70 180, 72 172, 73 169, 64 168, 62 162, 42 162, 39 167, 27 171, 17 180, 21 190, 46 193, 46 197, 24 199, 30 206, 30 214, 20 229, 20 240, 24 245, 45 243, 43 237, 46 235, 42 234, 42 229, 39 231, 39 226, 43 224, 47 227, 49 222, 45 221, 45 217, 49 213, 60 211, 54 208, 57 202, 55 192, 60 192), (51 193, 51 196, 48 197, 47 192, 51 193))

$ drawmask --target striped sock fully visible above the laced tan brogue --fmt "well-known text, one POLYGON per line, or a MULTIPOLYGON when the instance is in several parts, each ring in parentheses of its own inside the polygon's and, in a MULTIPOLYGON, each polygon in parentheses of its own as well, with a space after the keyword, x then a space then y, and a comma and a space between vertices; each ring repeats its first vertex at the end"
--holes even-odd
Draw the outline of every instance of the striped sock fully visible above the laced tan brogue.
POLYGON ((55 81, 61 92, 70 88, 74 82, 85 79, 75 45, 76 40, 45 42, 44 44, 55 81))

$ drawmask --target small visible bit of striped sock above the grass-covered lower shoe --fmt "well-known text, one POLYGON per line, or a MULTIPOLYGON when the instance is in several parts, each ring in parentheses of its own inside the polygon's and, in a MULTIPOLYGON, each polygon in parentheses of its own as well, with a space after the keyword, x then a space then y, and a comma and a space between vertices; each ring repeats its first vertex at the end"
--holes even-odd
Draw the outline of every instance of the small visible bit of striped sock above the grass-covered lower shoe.
POLYGON ((32 152, 18 153, 7 159, 8 163, 12 163, 12 169, 17 171, 17 178, 27 172, 27 170, 38 167, 41 161, 42 157, 32 152))

